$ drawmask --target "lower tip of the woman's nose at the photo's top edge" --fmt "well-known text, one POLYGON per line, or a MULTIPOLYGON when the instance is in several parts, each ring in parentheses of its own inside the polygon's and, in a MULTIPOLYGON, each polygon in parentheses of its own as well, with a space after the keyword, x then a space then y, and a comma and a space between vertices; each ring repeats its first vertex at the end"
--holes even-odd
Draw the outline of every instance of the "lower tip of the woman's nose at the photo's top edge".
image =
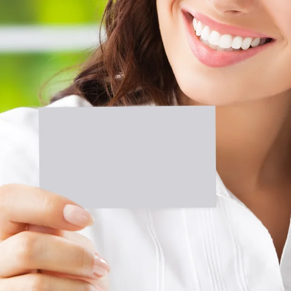
POLYGON ((219 14, 247 14, 255 0, 207 0, 208 4, 219 14))

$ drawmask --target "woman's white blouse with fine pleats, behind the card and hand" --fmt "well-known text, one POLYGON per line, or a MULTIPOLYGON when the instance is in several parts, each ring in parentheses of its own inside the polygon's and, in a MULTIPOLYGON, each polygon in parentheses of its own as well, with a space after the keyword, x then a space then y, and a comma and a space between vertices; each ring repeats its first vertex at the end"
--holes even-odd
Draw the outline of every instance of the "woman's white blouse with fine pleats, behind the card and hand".
MULTIPOLYGON (((1 113, 0 185, 38 186, 38 155, 38 110, 1 113)), ((109 261, 111 291, 291 291, 290 230, 279 264, 268 230, 216 184, 216 208, 90 210, 96 223, 81 233, 109 261)))

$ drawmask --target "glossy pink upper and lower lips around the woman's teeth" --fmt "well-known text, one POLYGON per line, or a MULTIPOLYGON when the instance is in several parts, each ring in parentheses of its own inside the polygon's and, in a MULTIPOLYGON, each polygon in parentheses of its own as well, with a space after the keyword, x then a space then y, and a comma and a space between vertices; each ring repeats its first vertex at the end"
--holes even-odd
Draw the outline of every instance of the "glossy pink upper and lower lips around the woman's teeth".
POLYGON ((231 34, 231 35, 240 35, 242 37, 261 37, 261 38, 269 38, 269 36, 249 31, 241 28, 231 27, 225 24, 218 23, 207 16, 203 16, 198 13, 194 13, 193 11, 184 10, 182 11, 184 22, 186 25, 188 41, 190 47, 196 56, 196 58, 204 65, 208 65, 211 67, 223 67, 227 65, 233 65, 236 63, 240 63, 252 56, 258 54, 262 50, 265 50, 272 46, 275 41, 267 43, 262 46, 258 46, 251 49, 246 50, 238 50, 238 51, 217 51, 210 49, 210 47, 206 46, 202 43, 198 36, 196 35, 193 27, 193 23, 191 19, 187 16, 187 12, 194 16, 197 20, 201 21, 204 25, 210 26, 210 28, 215 28, 217 32, 222 34, 231 34))

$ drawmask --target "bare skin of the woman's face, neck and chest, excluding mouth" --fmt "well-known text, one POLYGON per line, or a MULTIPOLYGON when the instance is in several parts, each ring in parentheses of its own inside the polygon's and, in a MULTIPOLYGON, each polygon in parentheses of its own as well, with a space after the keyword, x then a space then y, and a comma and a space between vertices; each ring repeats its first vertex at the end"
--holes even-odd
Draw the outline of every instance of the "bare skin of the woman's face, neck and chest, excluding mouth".
POLYGON ((291 215, 291 2, 157 0, 157 9, 178 102, 216 106, 217 171, 269 230, 280 260, 291 215), (187 42, 182 6, 277 41, 239 64, 203 65, 187 42))

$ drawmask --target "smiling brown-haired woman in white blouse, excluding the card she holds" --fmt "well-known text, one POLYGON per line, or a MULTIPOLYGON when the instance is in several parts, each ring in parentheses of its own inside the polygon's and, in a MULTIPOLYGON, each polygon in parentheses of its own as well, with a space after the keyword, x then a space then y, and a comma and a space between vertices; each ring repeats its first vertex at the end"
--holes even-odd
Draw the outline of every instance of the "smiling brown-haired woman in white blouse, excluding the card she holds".
POLYGON ((109 0, 108 39, 49 106, 216 105, 217 207, 94 209, 77 234, 90 214, 37 188, 37 110, 2 113, 0 290, 291 291, 290 13, 109 0))

